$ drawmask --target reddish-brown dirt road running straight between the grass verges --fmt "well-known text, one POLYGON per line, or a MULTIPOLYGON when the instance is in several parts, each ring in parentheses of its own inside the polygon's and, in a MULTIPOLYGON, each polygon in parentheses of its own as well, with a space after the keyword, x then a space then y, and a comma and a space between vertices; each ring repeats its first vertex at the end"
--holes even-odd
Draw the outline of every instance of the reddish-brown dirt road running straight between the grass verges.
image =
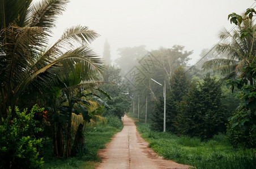
POLYGON ((151 148, 136 131, 133 119, 123 118, 123 130, 113 137, 113 140, 101 149, 99 156, 102 162, 97 168, 189 168, 189 166, 165 160, 151 148))

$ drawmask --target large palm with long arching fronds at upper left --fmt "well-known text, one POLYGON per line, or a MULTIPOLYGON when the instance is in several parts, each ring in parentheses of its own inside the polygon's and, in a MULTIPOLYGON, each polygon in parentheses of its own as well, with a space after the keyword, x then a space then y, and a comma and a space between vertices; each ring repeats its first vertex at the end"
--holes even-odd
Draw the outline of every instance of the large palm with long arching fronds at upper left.
POLYGON ((97 74, 104 66, 88 47, 99 35, 87 26, 66 29, 61 38, 48 46, 51 29, 68 0, 0 0, 0 117, 8 115, 8 106, 25 107, 37 94, 53 86, 64 86, 63 79, 82 70, 79 85, 66 85, 70 92, 77 86, 84 89, 97 85, 97 74), (29 100, 27 100, 29 99, 29 100))

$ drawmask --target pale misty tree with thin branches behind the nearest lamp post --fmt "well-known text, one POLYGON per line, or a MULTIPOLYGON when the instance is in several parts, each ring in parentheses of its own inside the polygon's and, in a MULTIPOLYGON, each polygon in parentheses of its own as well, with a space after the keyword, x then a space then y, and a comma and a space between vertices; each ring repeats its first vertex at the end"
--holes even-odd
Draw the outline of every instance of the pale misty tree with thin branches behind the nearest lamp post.
POLYGON ((144 110, 146 96, 150 95, 148 98, 151 99, 148 99, 147 104, 147 117, 150 117, 152 113, 155 113, 153 112, 156 111, 154 108, 155 102, 159 97, 163 97, 163 87, 153 82, 151 78, 161 84, 164 84, 164 81, 167 82, 168 89, 168 82, 170 81, 174 70, 179 66, 186 66, 187 61, 190 60, 189 56, 191 54, 192 51, 186 51, 184 46, 174 45, 172 48, 159 48, 159 50, 151 51, 148 53, 149 56, 145 56, 139 61, 140 65, 138 68, 142 73, 138 73, 135 77, 136 90, 134 90, 135 94, 133 98, 144 97, 143 99, 140 99, 140 105, 143 105, 141 110, 144 110))

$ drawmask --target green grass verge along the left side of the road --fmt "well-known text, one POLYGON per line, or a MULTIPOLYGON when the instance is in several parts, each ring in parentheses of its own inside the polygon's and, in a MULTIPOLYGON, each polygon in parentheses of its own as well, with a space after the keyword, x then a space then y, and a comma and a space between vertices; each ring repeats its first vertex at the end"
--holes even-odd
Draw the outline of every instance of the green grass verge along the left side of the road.
POLYGON ((86 128, 84 147, 80 150, 78 157, 53 157, 52 142, 50 139, 46 140, 44 149, 41 150, 44 153, 44 168, 96 168, 100 162, 100 158, 97 157, 98 150, 105 148, 105 144, 110 141, 110 138, 122 129, 122 123, 111 118, 111 122, 109 120, 106 125, 97 124, 86 128))

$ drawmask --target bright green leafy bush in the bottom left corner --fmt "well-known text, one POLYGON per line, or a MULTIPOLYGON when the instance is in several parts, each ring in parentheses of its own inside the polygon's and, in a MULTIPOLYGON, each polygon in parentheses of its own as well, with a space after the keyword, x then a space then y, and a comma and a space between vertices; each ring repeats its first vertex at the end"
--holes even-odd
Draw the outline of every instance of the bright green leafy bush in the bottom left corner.
MULTIPOLYGON (((44 161, 39 158, 39 148, 42 139, 36 134, 41 132, 38 121, 33 119, 36 112, 42 112, 33 106, 30 112, 24 109, 20 112, 15 107, 15 118, 10 115, 0 122, 0 168, 38 168, 44 161)), ((11 109, 9 108, 11 113, 11 109)))

